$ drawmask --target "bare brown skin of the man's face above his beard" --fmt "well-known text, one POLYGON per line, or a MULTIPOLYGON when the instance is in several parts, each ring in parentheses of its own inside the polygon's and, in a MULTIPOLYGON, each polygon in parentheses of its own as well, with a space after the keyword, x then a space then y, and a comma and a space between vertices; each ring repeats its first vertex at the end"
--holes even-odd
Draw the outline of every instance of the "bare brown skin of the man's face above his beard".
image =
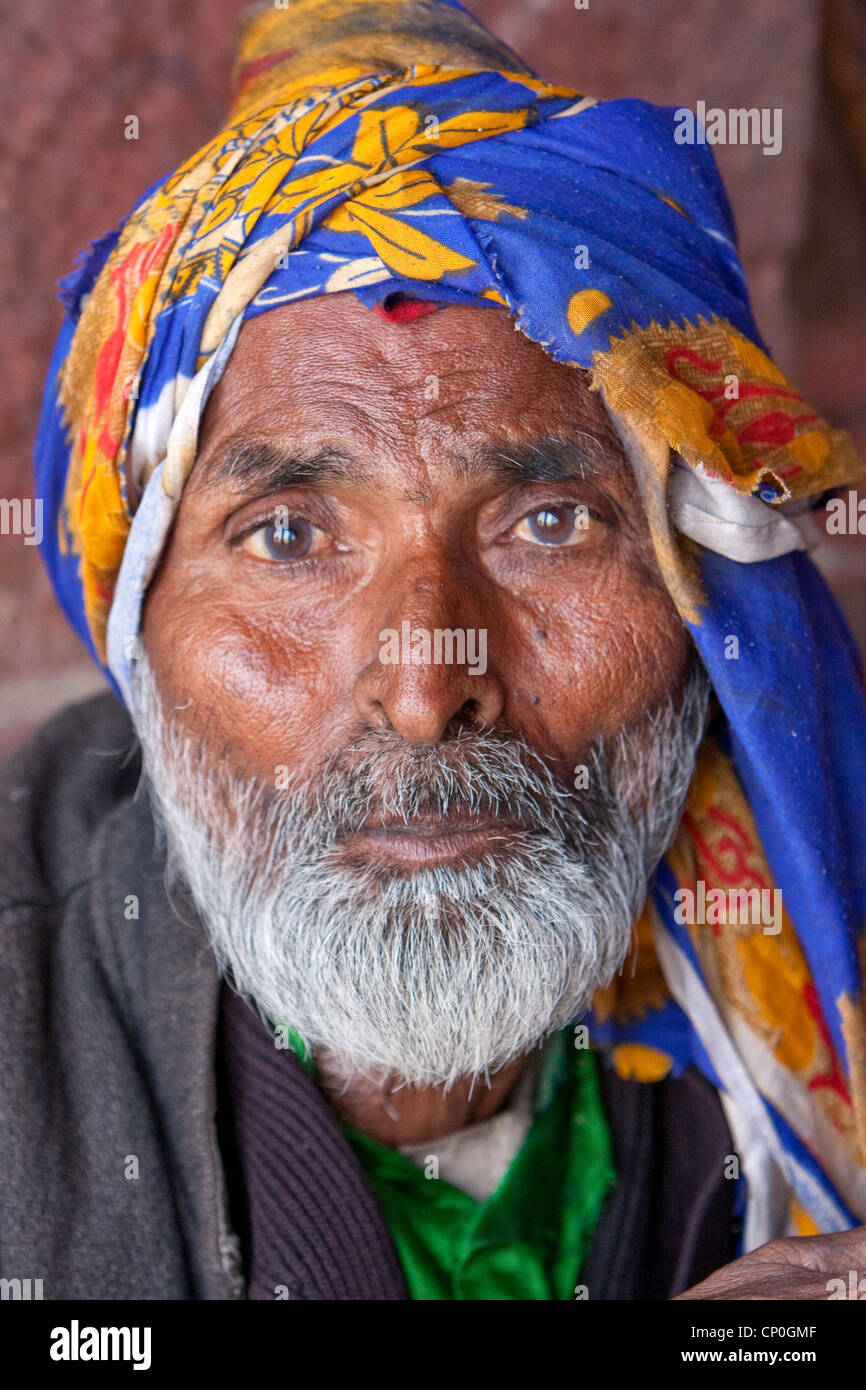
POLYGON ((436 741, 463 710, 570 780, 688 655, 582 374, 502 310, 395 325, 352 295, 243 325, 143 638, 161 688, 268 778, 360 726, 436 741), (405 621, 487 634, 487 670, 382 662, 405 621))

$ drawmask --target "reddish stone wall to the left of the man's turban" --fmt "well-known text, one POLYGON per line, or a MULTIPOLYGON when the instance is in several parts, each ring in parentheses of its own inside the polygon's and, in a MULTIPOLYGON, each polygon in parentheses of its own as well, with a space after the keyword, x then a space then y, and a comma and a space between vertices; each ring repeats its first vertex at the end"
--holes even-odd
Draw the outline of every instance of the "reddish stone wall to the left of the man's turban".
MULTIPOLYGON (((218 125, 236 6, 211 0, 28 0, 3 7, 0 496, 29 489, 42 384, 75 253, 218 125), (139 139, 124 138, 138 115, 139 139)), ((81 664, 33 546, 0 537, 0 671, 81 664)), ((58 677, 63 680, 63 677, 58 677)))

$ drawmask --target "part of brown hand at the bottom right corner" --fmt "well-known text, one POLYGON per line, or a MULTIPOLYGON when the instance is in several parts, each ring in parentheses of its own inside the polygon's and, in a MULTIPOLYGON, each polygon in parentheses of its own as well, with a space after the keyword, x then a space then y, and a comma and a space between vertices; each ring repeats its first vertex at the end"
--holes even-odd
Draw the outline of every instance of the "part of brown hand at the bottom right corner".
POLYGON ((681 1298, 866 1300, 866 1226, 835 1236, 770 1240, 673 1301, 681 1298))

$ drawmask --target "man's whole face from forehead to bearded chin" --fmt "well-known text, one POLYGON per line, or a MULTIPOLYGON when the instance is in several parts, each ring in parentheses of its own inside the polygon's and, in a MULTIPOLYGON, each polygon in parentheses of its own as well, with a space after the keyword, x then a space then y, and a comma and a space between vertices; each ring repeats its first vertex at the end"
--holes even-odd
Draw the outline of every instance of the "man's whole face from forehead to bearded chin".
POLYGON ((602 404, 498 310, 335 296, 200 443, 135 710, 217 956, 350 1074, 496 1072, 620 967, 706 710, 602 404))

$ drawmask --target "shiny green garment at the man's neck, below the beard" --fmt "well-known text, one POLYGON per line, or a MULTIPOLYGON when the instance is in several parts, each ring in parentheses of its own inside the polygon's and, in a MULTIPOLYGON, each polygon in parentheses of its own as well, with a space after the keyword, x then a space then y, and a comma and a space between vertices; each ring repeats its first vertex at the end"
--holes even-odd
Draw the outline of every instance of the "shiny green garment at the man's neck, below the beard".
MULTIPOLYGON (((311 1070, 302 1040, 291 1030, 288 1040, 311 1070)), ((569 1029, 548 1045, 530 1131, 484 1202, 349 1126, 343 1133, 377 1195, 413 1300, 575 1297, 616 1170, 598 1061, 573 1047, 569 1029)))

